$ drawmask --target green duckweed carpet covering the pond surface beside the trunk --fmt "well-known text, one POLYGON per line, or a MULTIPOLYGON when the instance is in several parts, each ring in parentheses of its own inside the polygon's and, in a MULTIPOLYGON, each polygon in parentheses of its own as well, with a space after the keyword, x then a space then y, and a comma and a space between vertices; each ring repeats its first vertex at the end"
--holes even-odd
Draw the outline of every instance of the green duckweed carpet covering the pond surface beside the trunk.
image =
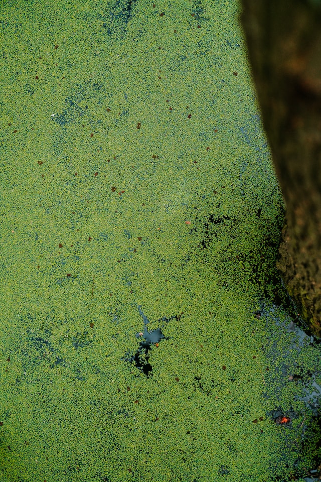
POLYGON ((1 482, 317 468, 320 349, 275 304, 239 14, 2 1, 1 482))

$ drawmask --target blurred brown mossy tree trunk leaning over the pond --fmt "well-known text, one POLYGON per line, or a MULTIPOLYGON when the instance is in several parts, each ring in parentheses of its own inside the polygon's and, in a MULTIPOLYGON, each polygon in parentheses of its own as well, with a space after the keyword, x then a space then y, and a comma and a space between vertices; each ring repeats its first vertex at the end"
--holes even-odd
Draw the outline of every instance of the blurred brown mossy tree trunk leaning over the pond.
POLYGON ((321 336, 321 2, 243 0, 241 20, 286 204, 278 268, 321 336))

